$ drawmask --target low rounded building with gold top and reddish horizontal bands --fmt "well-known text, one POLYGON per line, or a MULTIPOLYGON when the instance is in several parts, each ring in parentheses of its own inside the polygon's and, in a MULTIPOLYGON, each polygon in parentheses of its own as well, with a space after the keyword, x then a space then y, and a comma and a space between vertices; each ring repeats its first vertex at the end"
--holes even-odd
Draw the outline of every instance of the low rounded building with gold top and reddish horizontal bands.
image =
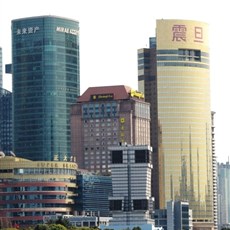
POLYGON ((77 164, 0 158, 0 216, 13 226, 43 223, 44 215, 74 214, 77 164))

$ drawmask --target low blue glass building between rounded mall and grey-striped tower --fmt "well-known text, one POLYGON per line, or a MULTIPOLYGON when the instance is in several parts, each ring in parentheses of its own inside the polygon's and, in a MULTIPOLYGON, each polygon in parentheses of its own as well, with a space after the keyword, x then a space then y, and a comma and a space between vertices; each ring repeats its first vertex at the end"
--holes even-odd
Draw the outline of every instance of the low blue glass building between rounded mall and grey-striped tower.
POLYGON ((75 212, 77 215, 108 217, 109 196, 112 194, 112 179, 88 171, 77 173, 77 196, 75 212))

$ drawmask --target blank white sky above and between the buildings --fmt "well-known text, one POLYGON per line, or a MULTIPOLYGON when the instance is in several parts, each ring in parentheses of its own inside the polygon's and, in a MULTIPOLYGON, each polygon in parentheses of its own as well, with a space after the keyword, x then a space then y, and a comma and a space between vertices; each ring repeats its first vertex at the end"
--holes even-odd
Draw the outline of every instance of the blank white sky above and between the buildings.
MULTIPOLYGON (((79 21, 81 94, 88 87, 127 85, 138 89, 137 50, 148 48, 157 19, 186 19, 209 25, 211 110, 215 111, 218 162, 230 156, 230 46, 228 1, 202 0, 1 0, 3 66, 11 63, 11 20, 55 15, 79 21)), ((3 73, 3 87, 12 90, 3 73)))

